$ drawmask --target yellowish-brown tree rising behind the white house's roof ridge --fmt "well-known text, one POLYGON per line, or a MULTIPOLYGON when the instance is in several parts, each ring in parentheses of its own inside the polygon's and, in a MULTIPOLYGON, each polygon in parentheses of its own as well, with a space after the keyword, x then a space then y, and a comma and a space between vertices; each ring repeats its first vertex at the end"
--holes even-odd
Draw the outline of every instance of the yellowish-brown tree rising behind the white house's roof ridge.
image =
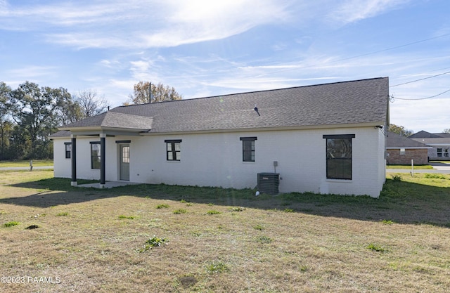
POLYGON ((139 105, 146 103, 162 102, 165 100, 181 100, 181 96, 174 87, 164 84, 151 84, 151 95, 149 92, 150 82, 138 82, 134 85, 134 93, 129 95, 129 100, 124 105, 139 105))

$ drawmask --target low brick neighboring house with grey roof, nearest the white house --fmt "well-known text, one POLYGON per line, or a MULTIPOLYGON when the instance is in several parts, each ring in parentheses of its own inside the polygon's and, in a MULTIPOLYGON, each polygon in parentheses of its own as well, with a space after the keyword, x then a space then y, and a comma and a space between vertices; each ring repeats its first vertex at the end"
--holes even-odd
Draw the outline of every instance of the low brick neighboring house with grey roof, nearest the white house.
POLYGON ((387 164, 428 164, 428 145, 387 131, 387 164))

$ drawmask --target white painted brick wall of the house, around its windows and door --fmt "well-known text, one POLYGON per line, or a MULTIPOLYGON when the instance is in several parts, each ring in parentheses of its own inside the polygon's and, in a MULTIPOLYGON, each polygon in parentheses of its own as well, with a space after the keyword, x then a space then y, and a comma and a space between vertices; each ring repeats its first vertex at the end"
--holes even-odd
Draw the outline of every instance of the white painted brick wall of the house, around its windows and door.
MULTIPOLYGON (((106 180, 119 177, 116 140, 130 140, 130 181, 178 185, 255 188, 257 173, 280 174, 279 190, 371 195, 378 197, 385 180, 384 136, 373 127, 296 131, 248 131, 217 134, 116 136, 106 139, 106 180), (323 135, 354 134, 352 180, 326 178, 323 135), (240 138, 256 137, 255 162, 243 162, 240 138), (167 161, 165 140, 181 140, 181 160, 167 161), (274 162, 278 162, 276 169, 274 162)), ((98 140, 98 139, 97 139, 98 140)), ((69 140, 65 140, 69 141, 69 140)), ((77 178, 100 178, 90 169, 89 141, 77 138, 77 178)), ((55 150, 64 140, 55 139, 55 150)), ((70 177, 70 159, 55 151, 55 176, 70 177)))

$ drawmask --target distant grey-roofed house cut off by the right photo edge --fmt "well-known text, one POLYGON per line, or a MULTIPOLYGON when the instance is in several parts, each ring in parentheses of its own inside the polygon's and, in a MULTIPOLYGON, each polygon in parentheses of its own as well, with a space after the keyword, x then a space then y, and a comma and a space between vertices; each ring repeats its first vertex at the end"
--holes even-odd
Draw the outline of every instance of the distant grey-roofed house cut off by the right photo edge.
POLYGON ((430 161, 450 161, 450 134, 430 134, 422 130, 408 137, 430 147, 428 150, 430 161))

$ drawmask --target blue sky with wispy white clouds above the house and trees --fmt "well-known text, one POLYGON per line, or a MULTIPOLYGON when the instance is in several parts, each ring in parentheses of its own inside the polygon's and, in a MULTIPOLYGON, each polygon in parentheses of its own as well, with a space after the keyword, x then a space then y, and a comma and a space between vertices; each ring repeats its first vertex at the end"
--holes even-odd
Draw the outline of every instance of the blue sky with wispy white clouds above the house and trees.
POLYGON ((448 0, 0 0, 0 81, 117 106, 139 81, 199 98, 390 77, 391 123, 441 132, 449 13, 448 0))

